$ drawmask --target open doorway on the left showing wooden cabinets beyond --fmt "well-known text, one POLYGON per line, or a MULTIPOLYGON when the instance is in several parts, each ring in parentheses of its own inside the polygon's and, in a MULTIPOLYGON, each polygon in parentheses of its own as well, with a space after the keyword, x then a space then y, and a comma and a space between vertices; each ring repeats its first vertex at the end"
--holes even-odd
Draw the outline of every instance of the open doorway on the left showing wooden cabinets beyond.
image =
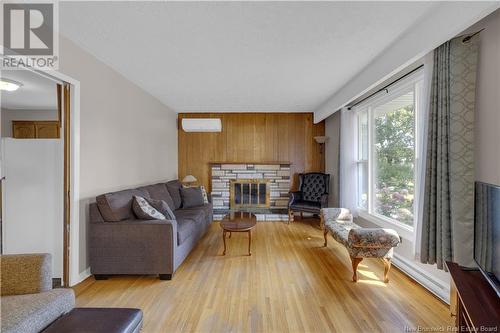
POLYGON ((56 285, 70 283, 71 85, 31 70, 2 71, 2 253, 52 255, 56 285))

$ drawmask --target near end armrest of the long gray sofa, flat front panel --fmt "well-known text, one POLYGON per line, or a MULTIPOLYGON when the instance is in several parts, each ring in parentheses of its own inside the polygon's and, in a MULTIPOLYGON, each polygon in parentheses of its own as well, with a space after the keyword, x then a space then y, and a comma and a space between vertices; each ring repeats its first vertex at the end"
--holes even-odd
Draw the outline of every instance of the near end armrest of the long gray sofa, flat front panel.
POLYGON ((89 236, 92 274, 173 273, 176 220, 90 223, 89 236))

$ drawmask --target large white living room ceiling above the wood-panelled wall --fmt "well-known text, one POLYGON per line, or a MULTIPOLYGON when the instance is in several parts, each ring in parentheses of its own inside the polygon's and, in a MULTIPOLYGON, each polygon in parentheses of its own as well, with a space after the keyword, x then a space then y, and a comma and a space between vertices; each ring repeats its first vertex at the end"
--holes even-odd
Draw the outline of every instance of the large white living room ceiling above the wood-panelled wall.
POLYGON ((60 32, 177 112, 313 111, 434 2, 64 2, 60 32))

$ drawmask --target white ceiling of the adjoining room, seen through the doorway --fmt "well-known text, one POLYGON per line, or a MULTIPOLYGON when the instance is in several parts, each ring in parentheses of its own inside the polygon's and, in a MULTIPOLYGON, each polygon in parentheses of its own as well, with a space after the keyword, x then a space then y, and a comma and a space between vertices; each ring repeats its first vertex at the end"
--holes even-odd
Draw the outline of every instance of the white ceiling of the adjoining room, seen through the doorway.
POLYGON ((23 84, 16 91, 1 91, 2 109, 57 110, 54 81, 27 70, 2 70, 0 77, 23 84))

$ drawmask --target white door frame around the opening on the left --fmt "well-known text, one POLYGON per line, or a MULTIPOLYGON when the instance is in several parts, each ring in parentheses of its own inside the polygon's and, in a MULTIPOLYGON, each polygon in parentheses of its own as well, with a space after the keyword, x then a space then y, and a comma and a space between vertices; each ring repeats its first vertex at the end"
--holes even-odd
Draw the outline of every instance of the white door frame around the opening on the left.
MULTIPOLYGON (((4 55, 0 54, 0 60, 4 58, 4 55)), ((69 123, 66 119, 63 119, 63 133, 64 128, 69 131, 69 198, 64 191, 64 211, 69 211, 69 214, 64 214, 63 217, 63 231, 67 231, 63 234, 63 267, 67 266, 67 269, 63 269, 63 281, 66 281, 65 286, 74 286, 77 283, 86 279, 89 275, 89 269, 86 268, 83 272, 80 272, 80 81, 61 73, 56 70, 39 70, 29 67, 23 67, 24 70, 34 72, 38 75, 46 77, 57 84, 63 85, 63 96, 64 96, 64 85, 68 84, 69 89, 69 123), (66 127, 68 126, 68 127, 66 127), (67 207, 69 205, 69 210, 67 207), (69 218, 69 221, 67 221, 69 218), (65 237, 66 236, 66 237, 65 237)), ((62 113, 64 114, 64 107, 66 106, 66 101, 62 101, 62 113)), ((66 146, 66 138, 64 140, 64 146, 66 146)), ((67 170, 66 165, 64 170, 67 170)))

